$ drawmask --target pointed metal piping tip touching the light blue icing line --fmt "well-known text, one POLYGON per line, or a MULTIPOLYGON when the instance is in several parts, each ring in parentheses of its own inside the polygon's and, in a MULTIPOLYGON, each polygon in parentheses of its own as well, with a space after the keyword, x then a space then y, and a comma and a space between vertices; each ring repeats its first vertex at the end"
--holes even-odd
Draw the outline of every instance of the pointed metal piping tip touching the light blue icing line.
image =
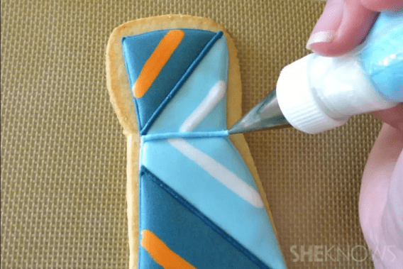
POLYGON ((260 101, 248 114, 229 128, 228 133, 291 127, 278 105, 276 90, 260 101))

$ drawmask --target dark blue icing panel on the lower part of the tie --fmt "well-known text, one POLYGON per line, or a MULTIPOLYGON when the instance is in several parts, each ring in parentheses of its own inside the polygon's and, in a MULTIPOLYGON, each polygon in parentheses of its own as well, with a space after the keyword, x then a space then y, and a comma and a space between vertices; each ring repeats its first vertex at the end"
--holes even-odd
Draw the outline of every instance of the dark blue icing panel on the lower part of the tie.
MULTIPOLYGON (((268 268, 144 167, 139 190, 140 231, 152 231, 194 267, 268 268)), ((139 268, 158 268, 147 263, 150 256, 140 247, 139 268)))

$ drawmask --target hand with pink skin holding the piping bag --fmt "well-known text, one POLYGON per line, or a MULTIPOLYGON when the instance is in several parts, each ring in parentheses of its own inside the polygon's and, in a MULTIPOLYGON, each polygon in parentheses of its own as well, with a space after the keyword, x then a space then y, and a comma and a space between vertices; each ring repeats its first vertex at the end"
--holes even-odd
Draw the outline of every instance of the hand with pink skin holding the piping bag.
MULTIPOLYGON (((336 56, 353 50, 377 12, 403 8, 402 0, 328 0, 307 48, 336 56)), ((359 214, 375 268, 403 266, 403 104, 373 113, 385 123, 363 172, 359 214)))

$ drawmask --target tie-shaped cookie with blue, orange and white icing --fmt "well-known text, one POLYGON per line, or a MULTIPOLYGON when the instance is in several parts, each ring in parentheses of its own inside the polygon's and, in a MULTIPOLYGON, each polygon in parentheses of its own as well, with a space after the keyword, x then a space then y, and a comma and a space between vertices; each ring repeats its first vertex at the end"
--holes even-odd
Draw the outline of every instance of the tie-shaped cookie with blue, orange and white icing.
POLYGON ((131 267, 285 268, 248 146, 226 131, 241 116, 228 33, 145 18, 114 30, 106 58, 128 137, 131 267))

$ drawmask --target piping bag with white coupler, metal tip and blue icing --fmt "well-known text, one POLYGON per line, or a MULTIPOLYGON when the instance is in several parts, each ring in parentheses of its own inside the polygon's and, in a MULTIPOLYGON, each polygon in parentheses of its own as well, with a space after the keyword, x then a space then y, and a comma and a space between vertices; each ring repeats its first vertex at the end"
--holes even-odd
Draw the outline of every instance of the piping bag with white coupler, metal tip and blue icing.
POLYGON ((402 101, 400 9, 380 13, 364 43, 346 55, 311 53, 287 65, 280 72, 276 89, 228 133, 289 126, 320 133, 342 126, 350 116, 388 109, 402 101))

